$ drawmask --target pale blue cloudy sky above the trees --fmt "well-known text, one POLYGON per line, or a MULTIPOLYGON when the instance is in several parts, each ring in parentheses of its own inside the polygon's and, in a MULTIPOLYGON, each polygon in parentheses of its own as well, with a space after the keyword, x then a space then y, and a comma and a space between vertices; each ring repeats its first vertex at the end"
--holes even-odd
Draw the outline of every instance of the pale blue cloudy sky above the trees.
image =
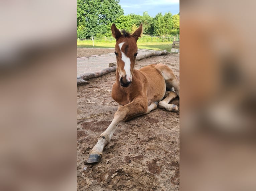
POLYGON ((168 13, 172 15, 179 13, 179 0, 120 0, 119 5, 124 10, 124 15, 134 13, 142 15, 147 11, 152 17, 157 13, 168 13))

